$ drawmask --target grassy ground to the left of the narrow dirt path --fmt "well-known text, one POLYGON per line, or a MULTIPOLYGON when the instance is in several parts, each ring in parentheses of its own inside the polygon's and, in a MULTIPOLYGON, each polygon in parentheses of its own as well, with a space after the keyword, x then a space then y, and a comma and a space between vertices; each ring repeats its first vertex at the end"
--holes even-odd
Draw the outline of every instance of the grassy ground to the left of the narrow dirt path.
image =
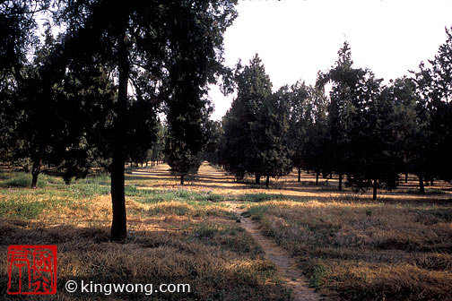
MULTIPOLYGON (((65 291, 67 280, 93 283, 189 284, 190 293, 160 293, 155 300, 289 300, 274 264, 240 228, 220 195, 181 187, 145 190, 127 180, 129 235, 126 244, 109 243, 111 204, 108 176, 65 185, 40 176, 0 175, 0 295, 6 295, 8 245, 57 245, 57 295, 39 300, 147 299, 143 294, 65 291)), ((11 299, 16 299, 11 297, 11 299)))

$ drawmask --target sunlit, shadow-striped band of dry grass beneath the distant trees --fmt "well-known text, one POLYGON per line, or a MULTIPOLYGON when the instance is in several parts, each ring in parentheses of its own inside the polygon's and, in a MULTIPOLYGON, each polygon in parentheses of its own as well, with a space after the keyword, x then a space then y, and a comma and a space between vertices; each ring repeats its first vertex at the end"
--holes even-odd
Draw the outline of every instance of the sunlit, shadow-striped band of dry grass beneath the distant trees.
MULTIPOLYGON (((159 165, 152 169, 139 168, 130 170, 127 175, 127 183, 136 185, 140 189, 175 189, 180 187, 178 178, 170 176, 168 165, 159 165), (152 180, 149 181, 149 180, 152 180)), ((350 198, 368 201, 372 198, 371 191, 356 194, 351 188, 344 188, 343 192, 337 191, 338 180, 331 178, 319 179, 319 185, 315 185, 314 174, 301 174, 301 182, 297 182, 297 173, 294 171, 289 176, 280 179, 272 179, 270 189, 265 189, 265 184, 255 185, 254 178, 248 177, 244 181, 235 181, 234 176, 225 171, 213 168, 204 163, 199 168, 199 175, 187 180, 187 189, 196 192, 209 191, 223 195, 226 199, 242 200, 245 194, 274 194, 282 195, 296 201, 331 201, 332 198, 350 198)), ((378 198, 384 202, 448 202, 452 199, 452 187, 442 181, 437 181, 435 186, 426 185, 427 194, 417 192, 417 179, 413 176, 407 184, 401 182, 398 189, 392 192, 378 190, 378 198), (440 190, 439 190, 440 189, 440 190), (439 192, 439 193, 438 193, 439 192)))

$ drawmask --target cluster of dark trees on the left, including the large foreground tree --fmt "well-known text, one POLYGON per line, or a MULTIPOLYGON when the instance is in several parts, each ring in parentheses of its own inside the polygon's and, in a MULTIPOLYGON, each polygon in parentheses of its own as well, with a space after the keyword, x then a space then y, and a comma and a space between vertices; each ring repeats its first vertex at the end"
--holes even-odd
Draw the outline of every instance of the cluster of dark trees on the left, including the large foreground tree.
POLYGON ((236 0, 8 0, 0 3, 2 160, 30 159, 67 181, 111 173, 111 240, 126 237, 126 160, 165 152, 183 183, 201 162, 207 85, 225 73, 236 0), (41 45, 37 18, 48 18, 41 45), (52 25, 50 25, 52 24, 52 25), (61 33, 54 38, 51 28, 61 33), (159 140, 160 139, 160 140, 159 140))

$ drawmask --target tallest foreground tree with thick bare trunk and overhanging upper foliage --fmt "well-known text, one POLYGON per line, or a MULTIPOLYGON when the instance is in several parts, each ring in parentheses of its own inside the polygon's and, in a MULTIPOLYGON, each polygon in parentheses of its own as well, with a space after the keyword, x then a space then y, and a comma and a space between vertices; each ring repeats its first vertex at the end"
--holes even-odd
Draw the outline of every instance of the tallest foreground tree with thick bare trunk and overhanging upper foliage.
MULTIPOLYGON (((184 125, 195 125, 199 120, 191 113, 197 114, 201 109, 200 90, 206 81, 213 81, 213 69, 220 66, 222 35, 236 15, 236 3, 234 0, 81 0, 60 7, 57 21, 65 22, 67 28, 65 48, 68 51, 65 55, 85 62, 94 56, 101 64, 115 70, 117 79, 117 101, 113 110, 111 240, 126 237, 124 147, 131 76, 136 82, 142 82, 140 78, 143 77, 157 82, 158 89, 136 94, 152 103, 168 99, 170 133, 182 135, 180 139, 179 136, 173 139, 170 147, 176 146, 173 150, 178 153, 196 156, 196 149, 185 148, 187 141, 180 132, 186 130, 184 125), (162 96, 161 91, 167 91, 168 98, 162 96), (187 116, 179 114, 178 104, 189 108, 187 116), (177 123, 181 118, 184 125, 177 123), (187 153, 187 150, 192 152, 187 153)), ((139 84, 134 88, 135 91, 142 90, 139 84)), ((187 137, 193 137, 195 132, 187 137)))

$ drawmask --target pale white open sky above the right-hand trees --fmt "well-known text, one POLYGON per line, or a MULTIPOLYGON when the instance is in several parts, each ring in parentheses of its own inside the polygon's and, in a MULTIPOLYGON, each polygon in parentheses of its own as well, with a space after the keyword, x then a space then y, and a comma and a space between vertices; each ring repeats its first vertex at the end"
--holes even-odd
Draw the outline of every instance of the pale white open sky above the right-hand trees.
MULTIPOLYGON (((224 36, 224 64, 256 55, 273 90, 316 82, 335 64, 346 40, 356 67, 386 81, 418 70, 433 58, 452 26, 452 0, 239 0, 238 18, 224 36)), ((233 96, 211 86, 209 97, 221 120, 233 96)))

